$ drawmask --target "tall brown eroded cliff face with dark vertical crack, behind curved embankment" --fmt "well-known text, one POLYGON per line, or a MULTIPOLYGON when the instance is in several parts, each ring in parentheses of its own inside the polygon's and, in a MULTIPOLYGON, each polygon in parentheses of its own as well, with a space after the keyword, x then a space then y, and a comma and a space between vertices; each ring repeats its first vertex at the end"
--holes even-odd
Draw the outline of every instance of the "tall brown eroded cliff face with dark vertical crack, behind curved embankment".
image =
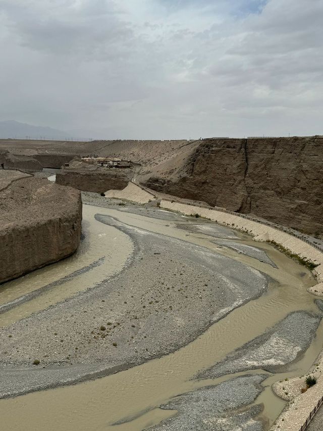
POLYGON ((320 136, 204 139, 175 172, 152 173, 143 183, 318 235, 323 232, 322 173, 320 136))

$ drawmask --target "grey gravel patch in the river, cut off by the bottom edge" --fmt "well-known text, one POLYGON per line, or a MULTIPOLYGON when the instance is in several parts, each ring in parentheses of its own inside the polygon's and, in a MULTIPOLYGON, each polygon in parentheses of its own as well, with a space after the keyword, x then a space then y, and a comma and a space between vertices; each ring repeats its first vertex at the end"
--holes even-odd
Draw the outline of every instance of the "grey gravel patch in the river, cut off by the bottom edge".
POLYGON ((227 380, 217 386, 202 388, 174 398, 160 408, 177 410, 178 414, 149 428, 153 431, 262 431, 254 419, 260 406, 243 408, 261 393, 265 375, 247 375, 227 380))

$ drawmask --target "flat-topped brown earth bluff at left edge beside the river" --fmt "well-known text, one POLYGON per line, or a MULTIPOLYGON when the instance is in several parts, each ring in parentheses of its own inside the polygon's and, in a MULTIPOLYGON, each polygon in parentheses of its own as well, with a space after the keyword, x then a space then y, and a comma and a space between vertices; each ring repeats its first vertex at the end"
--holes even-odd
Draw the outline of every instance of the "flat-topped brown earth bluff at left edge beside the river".
POLYGON ((28 177, 0 190, 0 283, 73 254, 81 221, 81 194, 71 187, 28 177))

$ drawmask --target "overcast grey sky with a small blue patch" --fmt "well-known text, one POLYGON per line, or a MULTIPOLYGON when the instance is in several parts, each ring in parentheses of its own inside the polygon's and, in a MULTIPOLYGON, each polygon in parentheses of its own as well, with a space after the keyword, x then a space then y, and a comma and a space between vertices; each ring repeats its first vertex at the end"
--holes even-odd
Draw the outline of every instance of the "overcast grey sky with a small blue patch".
POLYGON ((0 120, 105 138, 323 134, 323 0, 0 0, 0 120))

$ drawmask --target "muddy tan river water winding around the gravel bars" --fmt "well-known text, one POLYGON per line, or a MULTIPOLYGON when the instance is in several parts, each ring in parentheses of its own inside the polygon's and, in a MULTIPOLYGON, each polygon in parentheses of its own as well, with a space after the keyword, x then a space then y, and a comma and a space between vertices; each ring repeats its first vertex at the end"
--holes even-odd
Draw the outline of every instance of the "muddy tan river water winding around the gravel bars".
POLYGON ((178 238, 240 261, 270 277, 268 289, 259 298, 231 311, 196 340, 174 353, 96 380, 1 400, 3 429, 141 431, 176 414, 174 410, 159 408, 173 397, 217 385, 235 376, 257 373, 267 374, 261 384, 264 391, 254 404, 262 404, 259 418, 264 429, 268 428, 285 406, 285 402, 274 395, 271 385, 278 379, 304 374, 308 370, 322 348, 322 321, 309 348, 284 372, 273 374, 263 369, 253 369, 213 379, 194 378, 201 370, 222 361, 237 348, 261 336, 290 313, 302 310, 318 314, 315 297, 306 291, 308 286, 315 284, 311 273, 270 245, 255 243, 247 235, 227 229, 232 232, 232 237, 227 235, 224 246, 223 242, 222 245, 217 244, 217 240, 223 240, 221 231, 216 236, 209 234, 209 226, 214 226, 214 223, 198 220, 198 229, 191 229, 196 220, 178 216, 172 218, 172 215, 167 217, 169 213, 164 211, 156 210, 158 217, 153 217, 153 214, 147 217, 144 210, 141 215, 124 209, 118 211, 84 205, 84 238, 79 251, 64 261, 1 286, 0 305, 13 306, 0 314, 0 325, 7 326, 67 300, 121 271, 134 253, 133 243, 127 234, 97 221, 95 214, 112 216, 128 226, 162 234, 165 238, 178 238), (273 264, 229 247, 230 241, 256 247, 273 264), (104 265, 100 264, 102 256, 105 257, 104 265), (40 289, 43 290, 41 295, 28 297, 40 289))

